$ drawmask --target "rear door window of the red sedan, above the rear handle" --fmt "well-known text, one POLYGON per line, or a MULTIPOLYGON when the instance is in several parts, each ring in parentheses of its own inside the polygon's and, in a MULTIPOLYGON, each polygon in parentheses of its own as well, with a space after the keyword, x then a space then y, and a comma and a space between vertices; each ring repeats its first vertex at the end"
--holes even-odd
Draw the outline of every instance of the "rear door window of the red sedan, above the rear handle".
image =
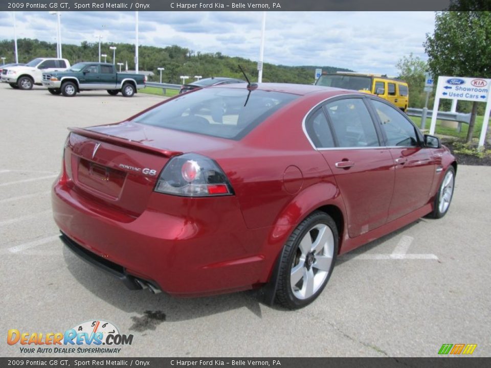
POLYGON ((362 99, 343 99, 327 104, 339 147, 378 147, 378 136, 362 99))

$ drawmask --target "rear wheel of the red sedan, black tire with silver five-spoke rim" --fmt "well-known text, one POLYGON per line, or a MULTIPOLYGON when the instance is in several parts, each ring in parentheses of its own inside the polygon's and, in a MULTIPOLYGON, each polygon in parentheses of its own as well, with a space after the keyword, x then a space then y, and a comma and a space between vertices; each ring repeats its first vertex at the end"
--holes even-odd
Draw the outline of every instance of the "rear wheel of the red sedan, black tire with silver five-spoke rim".
MULTIPOLYGON (((306 247, 308 248, 309 245, 307 244, 306 247)), ((336 263, 337 255, 338 228, 336 227, 336 223, 324 212, 313 212, 297 226, 295 231, 286 241, 278 268, 278 287, 276 289, 277 303, 288 309, 298 309, 315 301, 329 281, 332 274, 332 269, 334 268, 334 263, 336 263), (306 251, 307 253, 310 253, 302 261, 304 251, 301 248, 305 248, 305 246, 301 245, 301 243, 303 244, 302 240, 304 240, 304 238, 310 239, 310 245, 315 245, 318 243, 318 237, 319 243, 321 243, 320 240, 324 239, 321 234, 322 230, 318 230, 317 227, 324 229, 326 234, 325 239, 327 239, 325 241, 326 245, 323 245, 323 248, 319 250, 319 253, 316 253, 317 248, 314 249, 314 247, 309 251, 306 251), (315 234, 316 231, 317 235, 315 234), (329 231, 330 233, 328 233, 329 231), (330 238, 331 235, 332 239, 330 238), (313 238, 313 236, 316 236, 316 238, 313 238), (327 245, 328 243, 329 245, 327 245), (320 262, 321 257, 324 258, 325 261, 330 258, 330 263, 325 266, 324 270, 318 268, 318 263, 320 262), (295 285, 292 286, 292 282, 295 282, 292 281, 294 273, 300 274, 299 272, 295 272, 294 268, 301 271, 300 273, 304 276, 298 279, 295 285), (307 293, 307 283, 305 284, 306 291, 304 297, 299 297, 299 294, 301 294, 302 290, 304 289, 304 282, 306 282, 305 278, 308 278, 306 275, 308 272, 310 272, 310 270, 312 270, 313 278, 319 277, 317 279, 318 285, 315 286, 314 279, 311 279, 313 280, 311 281, 313 293, 307 293), (314 273, 315 270, 317 270, 316 273, 314 273), (302 283, 301 288, 299 287, 300 283, 302 283)))

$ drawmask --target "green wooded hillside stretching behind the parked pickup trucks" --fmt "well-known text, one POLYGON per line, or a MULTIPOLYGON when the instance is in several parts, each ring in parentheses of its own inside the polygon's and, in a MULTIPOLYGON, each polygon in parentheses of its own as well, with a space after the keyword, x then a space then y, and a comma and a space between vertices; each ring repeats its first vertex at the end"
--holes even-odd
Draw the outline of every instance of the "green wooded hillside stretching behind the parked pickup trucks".
MULTIPOLYGON (((113 50, 109 46, 116 46, 116 63, 122 62, 128 69, 135 70, 135 45, 129 43, 102 43, 101 54, 107 54, 107 62, 113 62, 113 50)), ((22 38, 17 40, 19 62, 28 62, 36 57, 56 57, 56 43, 39 41, 37 39, 22 38)), ((83 41, 80 45, 63 44, 63 57, 72 64, 79 61, 98 61, 99 43, 83 41)), ((6 57, 6 63, 14 62, 13 40, 0 41, 0 56, 6 57)), ((257 63, 240 57, 230 57, 221 53, 200 53, 181 48, 177 45, 158 48, 153 46, 140 46, 139 70, 153 71, 154 81, 159 81, 158 67, 164 67, 162 81, 165 83, 181 83, 179 76, 195 75, 208 77, 233 77, 243 79, 238 68, 240 64, 251 82, 257 81, 257 63)), ((102 58, 104 61, 104 58, 102 58)), ((123 65, 123 70, 125 68, 123 65)), ((324 72, 349 71, 333 66, 285 66, 264 63, 263 82, 278 83, 314 83, 315 68, 321 67, 324 72)))

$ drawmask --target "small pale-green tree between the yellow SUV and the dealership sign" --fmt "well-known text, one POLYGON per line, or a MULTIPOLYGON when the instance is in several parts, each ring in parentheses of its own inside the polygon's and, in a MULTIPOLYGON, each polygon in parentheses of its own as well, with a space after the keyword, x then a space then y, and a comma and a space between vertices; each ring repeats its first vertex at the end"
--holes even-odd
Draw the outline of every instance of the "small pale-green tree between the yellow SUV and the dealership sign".
POLYGON ((399 77, 408 83, 411 97, 409 107, 422 107, 425 99, 425 73, 428 69, 426 61, 410 53, 409 56, 400 58, 395 66, 399 70, 399 77))

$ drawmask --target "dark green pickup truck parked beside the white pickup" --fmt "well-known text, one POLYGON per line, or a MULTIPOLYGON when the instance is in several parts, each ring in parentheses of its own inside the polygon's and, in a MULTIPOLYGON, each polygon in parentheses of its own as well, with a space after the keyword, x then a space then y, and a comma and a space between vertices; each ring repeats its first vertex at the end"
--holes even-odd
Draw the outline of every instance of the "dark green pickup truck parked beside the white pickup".
POLYGON ((84 90, 105 89, 116 96, 131 97, 137 90, 145 87, 145 76, 142 74, 117 73, 113 64, 81 62, 72 65, 64 72, 44 73, 42 85, 52 95, 73 97, 84 90))

